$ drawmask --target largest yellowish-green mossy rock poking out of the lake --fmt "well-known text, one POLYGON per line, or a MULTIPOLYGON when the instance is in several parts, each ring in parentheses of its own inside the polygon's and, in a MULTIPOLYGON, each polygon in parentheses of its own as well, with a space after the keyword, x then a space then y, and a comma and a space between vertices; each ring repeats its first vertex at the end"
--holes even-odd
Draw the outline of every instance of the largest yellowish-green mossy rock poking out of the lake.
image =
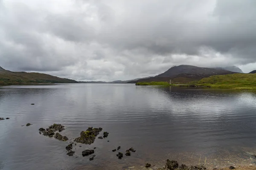
POLYGON ((74 141, 83 144, 92 144, 102 130, 99 128, 88 127, 86 131, 81 131, 80 137, 76 138, 74 141))

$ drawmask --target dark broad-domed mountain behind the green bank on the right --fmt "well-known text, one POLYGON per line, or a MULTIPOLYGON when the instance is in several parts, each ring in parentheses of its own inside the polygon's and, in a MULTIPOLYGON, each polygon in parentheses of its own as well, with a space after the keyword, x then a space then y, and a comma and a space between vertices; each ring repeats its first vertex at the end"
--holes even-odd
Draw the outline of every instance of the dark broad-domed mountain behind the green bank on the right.
POLYGON ((167 70, 166 72, 159 74, 155 77, 148 79, 139 79, 136 81, 130 81, 128 83, 136 82, 172 82, 187 83, 195 80, 200 80, 204 77, 209 77, 212 75, 224 75, 224 74, 234 74, 235 72, 223 70, 220 68, 204 68, 196 67, 193 65, 179 65, 174 66, 167 70))

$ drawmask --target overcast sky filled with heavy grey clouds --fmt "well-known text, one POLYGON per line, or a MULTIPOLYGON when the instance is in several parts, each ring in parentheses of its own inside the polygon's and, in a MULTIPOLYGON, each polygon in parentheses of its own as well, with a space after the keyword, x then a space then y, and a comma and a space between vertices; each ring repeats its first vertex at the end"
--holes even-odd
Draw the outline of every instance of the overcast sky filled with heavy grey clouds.
POLYGON ((256 0, 0 0, 0 66, 79 81, 256 69, 256 0))

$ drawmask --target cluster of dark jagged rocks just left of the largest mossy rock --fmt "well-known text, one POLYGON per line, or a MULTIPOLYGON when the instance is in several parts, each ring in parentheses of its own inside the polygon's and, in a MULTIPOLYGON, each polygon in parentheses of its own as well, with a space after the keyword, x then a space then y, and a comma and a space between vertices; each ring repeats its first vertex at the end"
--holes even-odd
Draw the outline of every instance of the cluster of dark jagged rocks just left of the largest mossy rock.
POLYGON ((53 124, 53 125, 49 126, 49 128, 47 128, 46 130, 43 127, 41 127, 39 129, 39 133, 43 134, 44 136, 49 136, 49 137, 53 137, 54 136, 55 139, 58 139, 60 141, 67 141, 68 140, 67 136, 62 136, 58 132, 55 133, 56 131, 61 132, 62 130, 65 130, 63 125, 61 125, 61 124, 53 124))

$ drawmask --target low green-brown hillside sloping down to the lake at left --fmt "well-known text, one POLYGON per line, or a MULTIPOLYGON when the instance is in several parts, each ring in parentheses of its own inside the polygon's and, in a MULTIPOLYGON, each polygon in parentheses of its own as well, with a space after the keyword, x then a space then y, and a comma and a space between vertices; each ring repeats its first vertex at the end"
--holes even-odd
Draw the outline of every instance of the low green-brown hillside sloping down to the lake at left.
POLYGON ((72 79, 63 79, 49 74, 12 72, 0 67, 0 84, 36 84, 36 83, 78 83, 72 79))

